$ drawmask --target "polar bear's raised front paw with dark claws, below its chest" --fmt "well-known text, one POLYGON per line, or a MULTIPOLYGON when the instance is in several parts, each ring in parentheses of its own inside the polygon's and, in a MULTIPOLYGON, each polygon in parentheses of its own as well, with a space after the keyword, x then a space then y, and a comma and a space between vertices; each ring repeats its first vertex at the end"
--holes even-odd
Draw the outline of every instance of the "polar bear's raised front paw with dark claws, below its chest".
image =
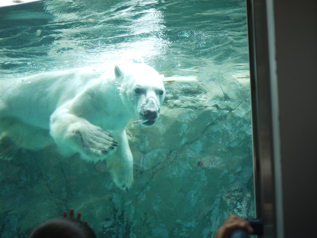
POLYGON ((84 157, 103 157, 118 146, 118 142, 100 127, 90 130, 72 130, 72 137, 81 147, 84 157))

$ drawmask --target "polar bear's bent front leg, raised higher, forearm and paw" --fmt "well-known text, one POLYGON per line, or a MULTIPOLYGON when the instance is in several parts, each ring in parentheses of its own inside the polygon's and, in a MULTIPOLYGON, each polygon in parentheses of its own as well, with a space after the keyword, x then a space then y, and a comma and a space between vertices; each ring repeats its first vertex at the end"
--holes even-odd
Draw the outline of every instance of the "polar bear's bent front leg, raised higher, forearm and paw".
POLYGON ((105 155, 118 146, 108 132, 86 119, 71 114, 65 108, 52 114, 50 134, 63 154, 79 152, 89 161, 106 158, 105 155))

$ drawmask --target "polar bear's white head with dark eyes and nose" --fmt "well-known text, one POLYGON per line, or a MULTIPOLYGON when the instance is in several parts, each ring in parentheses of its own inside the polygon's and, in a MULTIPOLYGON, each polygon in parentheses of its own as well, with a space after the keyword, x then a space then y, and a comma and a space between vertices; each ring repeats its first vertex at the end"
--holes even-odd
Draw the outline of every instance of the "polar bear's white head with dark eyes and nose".
POLYGON ((116 81, 121 84, 121 97, 133 123, 152 126, 159 118, 165 98, 164 75, 143 63, 116 65, 116 81))

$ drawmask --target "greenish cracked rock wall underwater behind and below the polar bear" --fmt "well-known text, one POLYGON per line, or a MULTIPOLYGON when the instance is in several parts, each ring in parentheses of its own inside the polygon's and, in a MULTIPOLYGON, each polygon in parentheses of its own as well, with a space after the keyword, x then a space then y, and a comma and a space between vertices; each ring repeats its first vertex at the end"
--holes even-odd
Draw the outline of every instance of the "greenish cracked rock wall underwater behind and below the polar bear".
POLYGON ((249 79, 189 81, 165 83, 153 127, 129 124, 129 192, 105 162, 62 158, 54 146, 0 160, 0 237, 26 237, 70 208, 100 238, 207 238, 229 214, 255 216, 249 79))

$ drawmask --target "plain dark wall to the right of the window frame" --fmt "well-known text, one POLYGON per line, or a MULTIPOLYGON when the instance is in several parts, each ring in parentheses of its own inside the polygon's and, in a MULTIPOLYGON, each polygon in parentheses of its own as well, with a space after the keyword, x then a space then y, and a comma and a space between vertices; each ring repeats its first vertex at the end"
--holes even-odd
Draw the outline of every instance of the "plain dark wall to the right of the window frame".
POLYGON ((317 1, 275 0, 274 13, 284 237, 316 237, 317 1))

